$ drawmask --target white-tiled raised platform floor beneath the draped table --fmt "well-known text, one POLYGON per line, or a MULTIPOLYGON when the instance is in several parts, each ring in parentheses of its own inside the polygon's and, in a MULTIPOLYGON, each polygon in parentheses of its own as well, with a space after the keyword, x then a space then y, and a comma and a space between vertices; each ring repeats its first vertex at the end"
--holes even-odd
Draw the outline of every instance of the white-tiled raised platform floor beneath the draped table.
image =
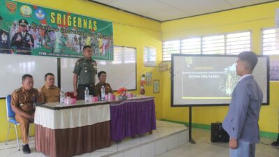
MULTIPOLYGON (((135 138, 126 138, 119 142, 114 143, 111 147, 98 149, 92 153, 82 154, 82 157, 99 157, 99 156, 112 156, 112 157, 152 157, 156 154, 161 154, 175 147, 179 147, 188 141, 188 128, 182 124, 174 124, 166 121, 156 121, 157 130, 153 130, 150 135, 140 135, 135 138)), ((44 154, 35 150, 34 138, 31 137, 29 142, 31 154, 23 154, 22 150, 17 150, 17 142, 15 140, 0 143, 0 156, 1 157, 17 157, 17 156, 32 156, 40 157, 44 154)), ((22 149, 22 147, 20 147, 22 149)))

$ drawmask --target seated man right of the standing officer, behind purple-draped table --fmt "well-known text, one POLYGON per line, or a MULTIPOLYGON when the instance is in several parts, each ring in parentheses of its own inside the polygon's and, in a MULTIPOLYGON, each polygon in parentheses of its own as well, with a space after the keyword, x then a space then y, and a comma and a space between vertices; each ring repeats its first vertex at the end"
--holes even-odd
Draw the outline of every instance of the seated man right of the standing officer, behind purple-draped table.
POLYGON ((110 84, 105 82, 105 80, 107 80, 107 73, 105 73, 105 71, 100 71, 98 73, 98 79, 99 82, 95 86, 96 96, 100 96, 100 89, 102 88, 102 86, 105 87, 105 94, 112 93, 112 87, 110 87, 110 84))

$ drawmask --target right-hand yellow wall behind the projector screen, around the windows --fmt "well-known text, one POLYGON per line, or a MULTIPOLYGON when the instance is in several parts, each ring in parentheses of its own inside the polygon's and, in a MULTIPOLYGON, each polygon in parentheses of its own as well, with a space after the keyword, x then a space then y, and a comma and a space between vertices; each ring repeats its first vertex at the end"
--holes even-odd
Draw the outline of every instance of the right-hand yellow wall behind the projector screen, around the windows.
MULTIPOLYGON (((252 51, 262 54, 262 28, 275 26, 275 11, 279 2, 266 3, 220 13, 190 17, 163 22, 163 40, 212 36, 234 31, 252 32, 252 51)), ((188 121, 187 107, 170 107, 170 76, 163 73, 163 118, 174 121, 188 121)), ((270 84, 270 105, 262 106, 259 128, 262 131, 278 133, 279 88, 278 82, 270 84)), ((211 124, 223 121, 228 107, 193 107, 193 123, 211 124)))

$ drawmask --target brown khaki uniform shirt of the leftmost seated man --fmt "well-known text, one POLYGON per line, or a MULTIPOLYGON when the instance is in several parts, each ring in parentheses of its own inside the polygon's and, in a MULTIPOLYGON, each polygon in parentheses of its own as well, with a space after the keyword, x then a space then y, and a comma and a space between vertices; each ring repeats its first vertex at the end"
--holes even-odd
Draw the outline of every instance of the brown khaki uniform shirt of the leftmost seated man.
POLYGON ((27 91, 21 87, 13 91, 11 105, 30 114, 35 111, 33 103, 40 102, 39 99, 39 92, 37 89, 33 88, 27 91))

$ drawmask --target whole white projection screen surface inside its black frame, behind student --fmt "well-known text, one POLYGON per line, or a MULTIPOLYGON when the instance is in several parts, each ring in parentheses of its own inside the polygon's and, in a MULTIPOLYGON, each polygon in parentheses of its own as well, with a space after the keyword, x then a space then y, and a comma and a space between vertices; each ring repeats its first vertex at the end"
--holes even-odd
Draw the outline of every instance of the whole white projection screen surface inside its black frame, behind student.
MULTIPOLYGON (((172 105, 228 105, 239 81, 236 56, 173 54, 172 105)), ((255 79, 268 94, 268 58, 259 57, 255 79)))

